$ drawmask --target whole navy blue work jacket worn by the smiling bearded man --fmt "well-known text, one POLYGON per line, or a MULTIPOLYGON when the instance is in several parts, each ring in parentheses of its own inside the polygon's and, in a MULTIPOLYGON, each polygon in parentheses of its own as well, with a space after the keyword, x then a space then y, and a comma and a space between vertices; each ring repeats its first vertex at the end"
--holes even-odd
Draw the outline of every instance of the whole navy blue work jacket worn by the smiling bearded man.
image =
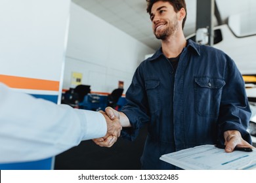
POLYGON ((133 141, 143 124, 148 137, 142 169, 175 169, 160 156, 202 144, 224 143, 226 130, 246 131, 251 116, 242 75, 221 50, 188 41, 175 73, 158 50, 140 63, 126 93, 124 112, 132 127, 122 137, 133 141))

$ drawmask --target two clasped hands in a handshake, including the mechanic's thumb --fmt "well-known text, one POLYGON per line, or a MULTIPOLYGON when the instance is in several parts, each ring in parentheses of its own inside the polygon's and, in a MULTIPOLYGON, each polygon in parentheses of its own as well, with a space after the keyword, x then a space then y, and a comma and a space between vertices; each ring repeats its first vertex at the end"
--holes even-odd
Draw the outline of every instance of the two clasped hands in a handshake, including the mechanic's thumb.
POLYGON ((111 147, 121 134, 120 114, 111 107, 106 107, 105 112, 99 111, 106 119, 107 133, 104 137, 93 139, 98 146, 111 147))

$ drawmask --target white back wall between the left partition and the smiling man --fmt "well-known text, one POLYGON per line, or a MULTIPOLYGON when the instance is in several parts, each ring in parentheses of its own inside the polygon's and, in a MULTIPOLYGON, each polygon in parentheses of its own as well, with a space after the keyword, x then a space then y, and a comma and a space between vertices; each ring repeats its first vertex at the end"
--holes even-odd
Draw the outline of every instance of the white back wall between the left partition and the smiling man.
POLYGON ((82 84, 92 92, 112 92, 118 81, 124 89, 146 54, 154 52, 91 12, 71 3, 70 30, 64 70, 64 89, 71 86, 72 72, 82 73, 82 84))

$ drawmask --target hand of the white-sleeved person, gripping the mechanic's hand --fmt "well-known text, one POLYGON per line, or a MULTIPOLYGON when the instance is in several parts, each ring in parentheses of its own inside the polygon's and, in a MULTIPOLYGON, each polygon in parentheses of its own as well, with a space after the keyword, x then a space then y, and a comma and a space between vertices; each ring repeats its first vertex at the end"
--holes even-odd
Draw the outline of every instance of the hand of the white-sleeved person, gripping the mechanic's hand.
POLYGON ((103 111, 99 112, 106 119, 107 133, 104 137, 93 139, 93 141, 98 146, 111 147, 117 141, 117 137, 120 137, 122 127, 119 122, 119 118, 116 118, 116 116, 112 116, 112 118, 110 119, 103 111))

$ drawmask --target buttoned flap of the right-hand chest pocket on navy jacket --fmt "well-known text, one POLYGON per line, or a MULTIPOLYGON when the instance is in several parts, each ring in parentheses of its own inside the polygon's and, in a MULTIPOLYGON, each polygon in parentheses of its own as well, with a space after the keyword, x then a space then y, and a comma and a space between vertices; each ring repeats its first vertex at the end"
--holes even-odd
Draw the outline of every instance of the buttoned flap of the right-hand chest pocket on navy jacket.
POLYGON ((221 78, 196 77, 195 82, 203 88, 221 88, 226 82, 221 78))

